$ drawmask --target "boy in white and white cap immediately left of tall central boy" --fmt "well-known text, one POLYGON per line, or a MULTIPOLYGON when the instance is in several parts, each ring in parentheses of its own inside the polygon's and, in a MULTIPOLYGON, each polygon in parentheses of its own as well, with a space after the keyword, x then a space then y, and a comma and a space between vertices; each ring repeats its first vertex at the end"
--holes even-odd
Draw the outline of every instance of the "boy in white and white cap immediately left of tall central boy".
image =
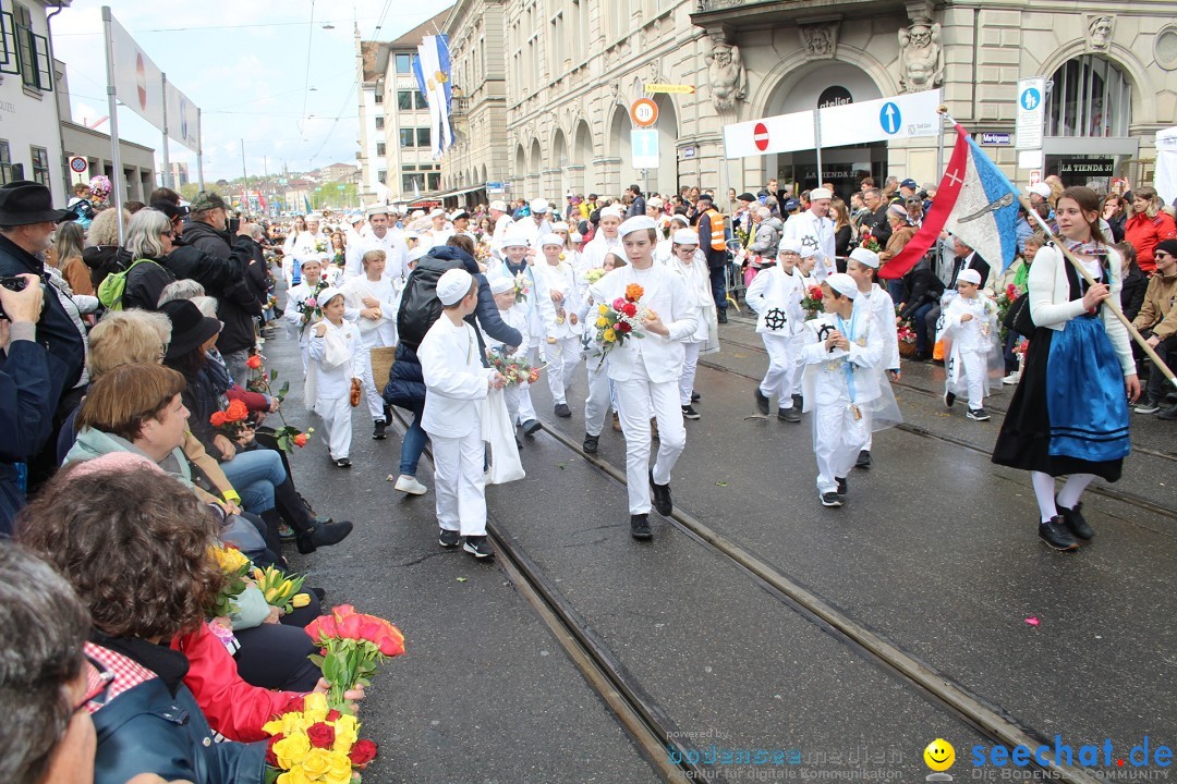
POLYGON ((543 257, 536 262, 532 273, 537 279, 543 277, 543 287, 547 289, 547 297, 552 303, 552 319, 550 322, 545 319, 547 334, 543 346, 544 361, 547 363, 547 387, 552 393, 556 416, 566 418, 572 416, 567 389, 580 364, 583 329, 577 276, 572 264, 560 260, 560 254, 564 253, 564 239, 560 235, 552 233, 539 237, 539 248, 543 257))

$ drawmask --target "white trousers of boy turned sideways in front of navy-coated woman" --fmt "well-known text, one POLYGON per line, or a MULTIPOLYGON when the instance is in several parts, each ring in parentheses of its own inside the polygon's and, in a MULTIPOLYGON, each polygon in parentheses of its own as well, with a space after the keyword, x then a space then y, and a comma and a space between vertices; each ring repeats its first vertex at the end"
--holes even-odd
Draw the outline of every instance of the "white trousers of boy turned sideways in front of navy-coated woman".
POLYGON ((430 434, 433 442, 433 492, 438 524, 463 536, 486 535, 486 449, 483 428, 460 438, 430 434))

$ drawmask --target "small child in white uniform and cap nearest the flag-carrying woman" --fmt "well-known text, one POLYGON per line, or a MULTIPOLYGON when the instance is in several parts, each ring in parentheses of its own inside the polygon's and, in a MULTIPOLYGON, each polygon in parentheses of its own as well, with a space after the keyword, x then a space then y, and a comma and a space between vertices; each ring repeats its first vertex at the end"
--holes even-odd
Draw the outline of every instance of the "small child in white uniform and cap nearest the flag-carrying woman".
POLYGON ((997 306, 980 296, 980 273, 965 269, 957 275, 957 296, 944 308, 943 335, 952 341, 945 364, 944 404, 952 408, 958 394, 967 393, 970 420, 985 422, 989 394, 989 357, 997 349, 997 306))

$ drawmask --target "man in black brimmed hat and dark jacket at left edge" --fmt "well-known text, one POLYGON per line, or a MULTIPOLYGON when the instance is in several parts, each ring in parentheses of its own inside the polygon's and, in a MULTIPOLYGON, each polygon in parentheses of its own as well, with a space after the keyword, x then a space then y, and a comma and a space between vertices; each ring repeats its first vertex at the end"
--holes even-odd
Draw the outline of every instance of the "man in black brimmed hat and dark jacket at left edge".
MULTIPOLYGON (((53 194, 39 182, 18 180, 0 186, 0 276, 36 275, 49 284, 45 252, 58 223, 74 213, 53 209, 53 194)), ((48 396, 56 410, 62 393, 81 378, 86 343, 56 296, 45 297, 36 321, 36 342, 48 349, 48 396)))

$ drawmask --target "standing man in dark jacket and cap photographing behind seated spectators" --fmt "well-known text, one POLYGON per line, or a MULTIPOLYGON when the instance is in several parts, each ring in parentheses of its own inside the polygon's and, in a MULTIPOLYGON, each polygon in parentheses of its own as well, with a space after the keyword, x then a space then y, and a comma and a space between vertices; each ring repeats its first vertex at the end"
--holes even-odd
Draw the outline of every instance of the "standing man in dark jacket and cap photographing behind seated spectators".
MULTIPOLYGON (((241 223, 237 239, 231 240, 225 230, 227 221, 228 206, 225 200, 215 193, 201 190, 192 202, 192 216, 184 229, 184 243, 214 259, 232 260, 237 267, 232 287, 224 289, 225 294, 217 297, 217 317, 225 323, 217 349, 225 357, 233 381, 244 387, 250 378, 245 363, 257 344, 253 320, 261 315, 264 303, 258 301, 246 283, 246 273, 257 244, 250 236, 253 225, 241 223)), ((217 296, 212 292, 210 295, 217 296)))

